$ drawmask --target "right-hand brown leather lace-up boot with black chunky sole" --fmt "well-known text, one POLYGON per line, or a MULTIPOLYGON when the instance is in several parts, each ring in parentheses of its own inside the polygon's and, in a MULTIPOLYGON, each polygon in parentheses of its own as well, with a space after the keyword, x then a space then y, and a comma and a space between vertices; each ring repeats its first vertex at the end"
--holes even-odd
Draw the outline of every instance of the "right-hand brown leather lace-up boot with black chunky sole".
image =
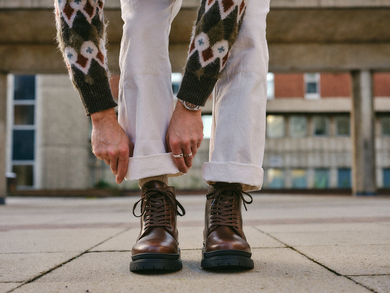
POLYGON ((252 269, 249 246, 242 230, 241 206, 252 203, 252 196, 236 183, 218 182, 207 194, 202 262, 205 269, 252 269), (244 199, 243 193, 250 197, 244 199))

